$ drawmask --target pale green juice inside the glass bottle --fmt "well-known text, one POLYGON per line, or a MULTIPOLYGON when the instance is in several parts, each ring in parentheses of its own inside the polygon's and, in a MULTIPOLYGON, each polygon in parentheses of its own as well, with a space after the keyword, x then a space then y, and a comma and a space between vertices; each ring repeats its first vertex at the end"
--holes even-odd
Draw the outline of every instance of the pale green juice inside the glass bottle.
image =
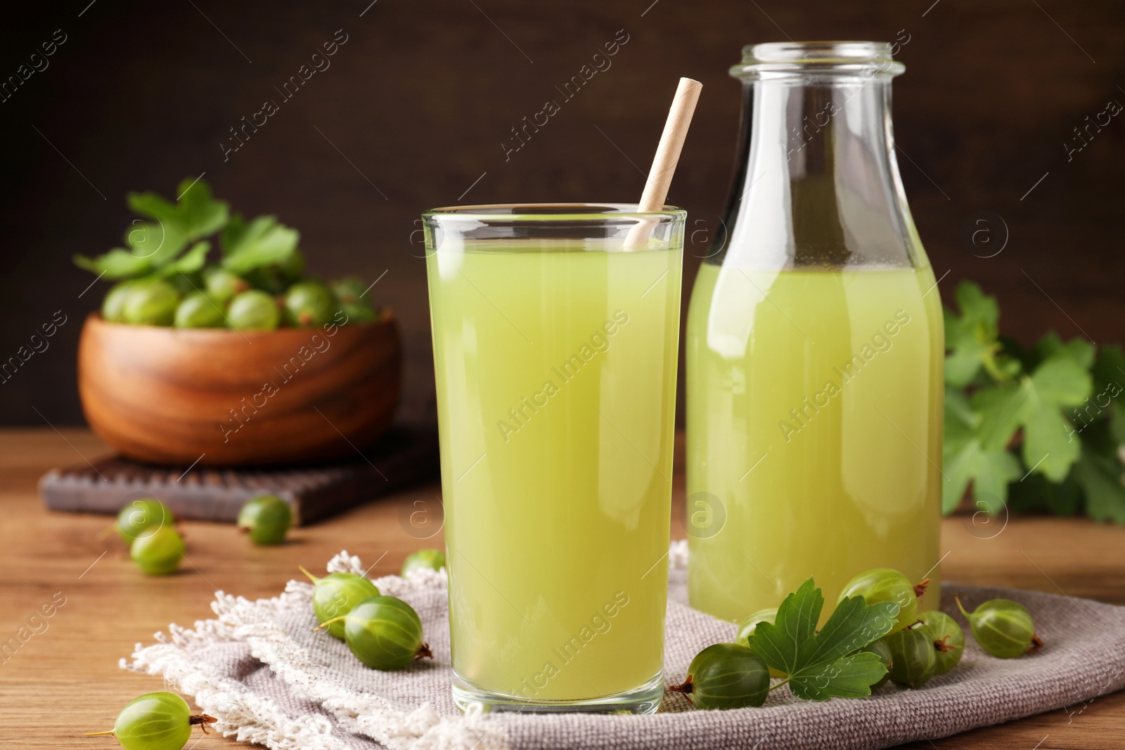
POLYGON ((694 606, 740 621, 814 576, 827 618, 857 572, 934 567, 940 320, 928 266, 700 268, 687 512, 724 518, 691 539, 694 606))

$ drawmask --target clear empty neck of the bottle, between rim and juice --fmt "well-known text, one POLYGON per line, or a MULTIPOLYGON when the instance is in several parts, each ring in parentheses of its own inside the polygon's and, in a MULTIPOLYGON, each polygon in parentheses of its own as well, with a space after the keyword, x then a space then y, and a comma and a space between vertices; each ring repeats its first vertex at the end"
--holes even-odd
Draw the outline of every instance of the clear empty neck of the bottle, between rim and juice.
POLYGON ((925 262, 893 152, 890 81, 758 76, 744 84, 739 172, 712 262, 762 270, 925 262))

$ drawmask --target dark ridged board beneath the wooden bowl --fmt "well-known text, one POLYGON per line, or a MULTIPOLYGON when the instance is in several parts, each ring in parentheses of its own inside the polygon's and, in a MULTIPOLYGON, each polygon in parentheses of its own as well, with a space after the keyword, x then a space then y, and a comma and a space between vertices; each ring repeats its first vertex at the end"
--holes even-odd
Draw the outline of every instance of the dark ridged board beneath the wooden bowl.
POLYGON ((246 499, 269 493, 307 525, 438 473, 436 430, 396 426, 352 461, 222 469, 112 457, 52 469, 39 479, 39 495, 52 510, 116 514, 130 500, 155 497, 179 518, 234 522, 246 499))

